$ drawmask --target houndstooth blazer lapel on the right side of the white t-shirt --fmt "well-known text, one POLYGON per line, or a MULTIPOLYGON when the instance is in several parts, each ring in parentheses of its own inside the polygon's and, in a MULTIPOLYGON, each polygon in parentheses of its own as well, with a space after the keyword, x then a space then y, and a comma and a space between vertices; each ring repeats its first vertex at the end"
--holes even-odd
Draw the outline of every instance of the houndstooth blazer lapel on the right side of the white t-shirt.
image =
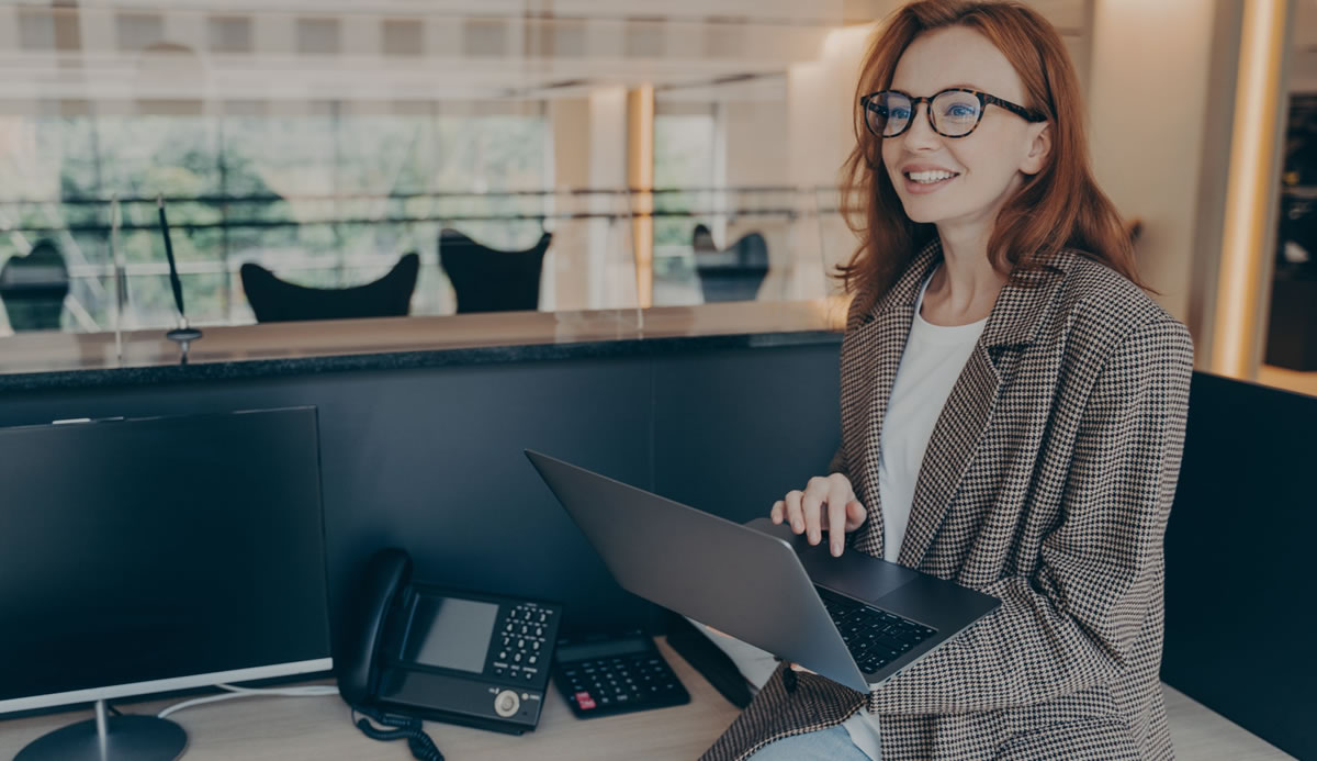
MULTIPOLYGON (((1064 265, 1067 257, 1065 253, 1059 254, 1054 263, 1064 265)), ((1063 271, 1023 273, 1006 283, 997 296, 988 324, 932 428, 919 465, 909 528, 897 558, 901 565, 919 567, 923 562, 992 423, 1002 377, 1009 371, 1008 357, 1014 357, 1006 350, 1038 338, 1063 271)), ((890 394, 890 386, 888 391, 890 394)))

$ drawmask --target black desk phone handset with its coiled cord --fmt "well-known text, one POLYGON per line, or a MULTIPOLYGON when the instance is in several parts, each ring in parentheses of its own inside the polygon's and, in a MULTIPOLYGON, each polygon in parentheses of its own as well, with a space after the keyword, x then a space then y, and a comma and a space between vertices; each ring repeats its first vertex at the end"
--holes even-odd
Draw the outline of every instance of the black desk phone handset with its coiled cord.
POLYGON ((420 719, 371 706, 379 687, 385 624, 389 614, 403 604, 411 569, 411 557, 398 548, 382 549, 366 562, 361 582, 349 600, 344 644, 335 658, 335 675, 344 702, 362 714, 356 724, 363 735, 374 740, 407 740, 412 756, 420 761, 444 761, 444 754, 425 735, 420 719))

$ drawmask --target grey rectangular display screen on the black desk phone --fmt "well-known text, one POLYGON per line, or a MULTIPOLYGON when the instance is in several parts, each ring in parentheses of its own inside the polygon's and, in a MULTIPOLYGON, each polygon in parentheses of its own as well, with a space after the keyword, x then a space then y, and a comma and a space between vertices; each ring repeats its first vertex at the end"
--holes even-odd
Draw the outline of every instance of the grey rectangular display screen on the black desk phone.
POLYGON ((402 660, 478 674, 485 670, 497 617, 494 603, 421 594, 403 639, 402 660))

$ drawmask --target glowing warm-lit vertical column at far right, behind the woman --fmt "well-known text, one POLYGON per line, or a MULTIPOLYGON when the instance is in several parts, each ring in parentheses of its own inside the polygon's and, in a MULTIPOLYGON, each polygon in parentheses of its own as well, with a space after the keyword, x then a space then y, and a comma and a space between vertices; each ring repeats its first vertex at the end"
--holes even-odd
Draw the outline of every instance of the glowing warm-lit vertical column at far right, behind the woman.
POLYGON ((1258 374, 1267 287, 1272 273, 1288 0, 1243 5, 1225 230, 1217 279, 1210 370, 1251 379, 1258 374))

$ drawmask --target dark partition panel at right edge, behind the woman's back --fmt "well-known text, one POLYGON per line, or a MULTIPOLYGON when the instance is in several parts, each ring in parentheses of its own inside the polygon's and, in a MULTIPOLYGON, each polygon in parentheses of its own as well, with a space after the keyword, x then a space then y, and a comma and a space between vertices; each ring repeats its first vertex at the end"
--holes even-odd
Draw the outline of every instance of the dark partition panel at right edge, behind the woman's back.
POLYGON ((1317 758, 1317 398, 1195 373, 1162 679, 1317 758))

